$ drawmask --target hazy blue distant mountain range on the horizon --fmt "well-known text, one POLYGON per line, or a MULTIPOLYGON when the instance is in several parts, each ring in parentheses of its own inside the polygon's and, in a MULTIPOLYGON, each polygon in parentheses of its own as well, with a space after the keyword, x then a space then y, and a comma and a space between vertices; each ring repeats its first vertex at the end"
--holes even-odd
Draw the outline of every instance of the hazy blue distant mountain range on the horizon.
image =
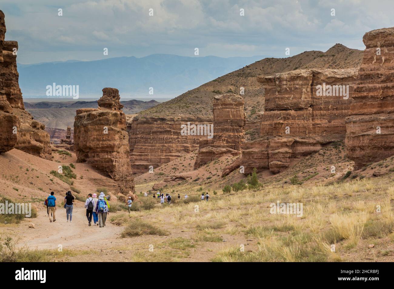
POLYGON ((180 94, 221 75, 259 61, 252 57, 185 57, 152 54, 97 61, 56 61, 18 64, 19 86, 24 96, 46 96, 46 86, 79 85, 80 97, 102 95, 102 88, 118 88, 121 97, 180 94), (153 88, 153 95, 149 88, 153 88))

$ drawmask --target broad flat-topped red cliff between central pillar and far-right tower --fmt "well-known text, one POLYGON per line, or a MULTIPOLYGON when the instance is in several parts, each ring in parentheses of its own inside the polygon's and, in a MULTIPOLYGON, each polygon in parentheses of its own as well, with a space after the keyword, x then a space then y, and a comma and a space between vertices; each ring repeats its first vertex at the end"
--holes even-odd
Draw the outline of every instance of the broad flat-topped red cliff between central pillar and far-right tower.
POLYGON ((260 138, 242 145, 245 173, 253 168, 279 173, 293 159, 344 140, 357 69, 294 70, 260 76, 265 109, 260 138))

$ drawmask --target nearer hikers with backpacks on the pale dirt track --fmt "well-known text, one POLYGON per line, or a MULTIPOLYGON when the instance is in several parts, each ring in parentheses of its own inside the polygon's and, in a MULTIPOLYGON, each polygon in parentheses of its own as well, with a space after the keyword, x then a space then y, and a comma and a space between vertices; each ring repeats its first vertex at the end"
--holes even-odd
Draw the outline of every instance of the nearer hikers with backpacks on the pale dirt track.
MULTIPOLYGON (((46 198, 44 203, 46 205, 46 213, 48 214, 49 221, 51 223, 56 221, 56 197, 54 195, 55 193, 51 191, 50 195, 46 198)), ((92 225, 93 217, 93 222, 96 226, 99 226, 100 228, 105 227, 105 221, 107 219, 107 214, 109 214, 110 208, 107 197, 104 195, 103 192, 100 193, 98 199, 96 193, 89 193, 87 196, 88 197, 85 201, 84 207, 86 208, 86 218, 89 222, 88 225, 92 225)), ((131 197, 129 198, 131 199, 131 197)), ((64 197, 63 206, 66 209, 67 223, 69 222, 69 220, 70 223, 72 223, 72 209, 74 207, 74 201, 75 197, 71 194, 71 191, 68 191, 66 193, 66 196, 64 197)))

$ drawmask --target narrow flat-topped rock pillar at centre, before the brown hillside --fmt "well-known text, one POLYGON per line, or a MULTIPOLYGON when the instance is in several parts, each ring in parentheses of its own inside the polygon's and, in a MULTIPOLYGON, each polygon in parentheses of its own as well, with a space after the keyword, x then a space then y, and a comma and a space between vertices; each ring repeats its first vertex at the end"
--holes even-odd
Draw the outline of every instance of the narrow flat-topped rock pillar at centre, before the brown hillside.
MULTIPOLYGON (((241 154, 244 139, 245 114, 243 98, 236 94, 223 94, 213 100, 214 124, 200 140, 194 168, 220 158, 223 155, 241 154), (209 132, 212 135, 209 135, 209 132)), ((198 129, 198 127, 197 127, 198 129)))

